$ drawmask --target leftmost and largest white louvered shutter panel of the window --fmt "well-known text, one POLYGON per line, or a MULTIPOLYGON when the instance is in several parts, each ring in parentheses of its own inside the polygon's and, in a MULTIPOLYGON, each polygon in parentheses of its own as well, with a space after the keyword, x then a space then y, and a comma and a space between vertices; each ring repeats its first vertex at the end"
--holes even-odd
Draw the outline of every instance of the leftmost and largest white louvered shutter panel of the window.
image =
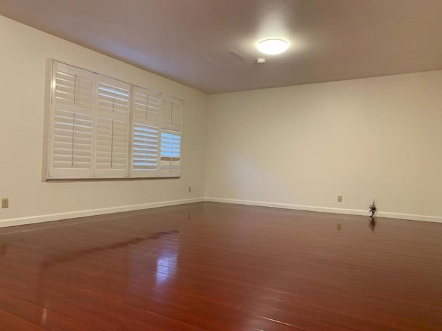
POLYGON ((53 63, 49 178, 90 177, 93 77, 92 72, 53 63))

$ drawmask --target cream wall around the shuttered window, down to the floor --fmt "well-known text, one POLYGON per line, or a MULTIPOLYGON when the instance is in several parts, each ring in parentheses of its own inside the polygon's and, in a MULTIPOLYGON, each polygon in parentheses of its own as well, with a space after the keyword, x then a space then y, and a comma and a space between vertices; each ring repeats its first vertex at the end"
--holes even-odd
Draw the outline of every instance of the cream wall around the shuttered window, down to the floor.
POLYGON ((0 209, 0 226, 204 197, 206 94, 5 17, 0 17, 0 44, 0 198, 10 199, 10 208, 0 209), (43 182, 47 58, 66 61, 183 99, 182 177, 43 182), (192 187, 191 193, 188 193, 189 186, 192 187), (88 212, 97 209, 100 211, 88 212), (67 214, 48 216, 59 213, 67 214))

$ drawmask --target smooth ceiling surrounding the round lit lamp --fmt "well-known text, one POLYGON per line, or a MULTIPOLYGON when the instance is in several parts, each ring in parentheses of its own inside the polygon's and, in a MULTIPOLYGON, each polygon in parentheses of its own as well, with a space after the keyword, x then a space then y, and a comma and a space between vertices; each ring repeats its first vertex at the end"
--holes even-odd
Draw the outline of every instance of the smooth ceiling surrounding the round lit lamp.
POLYGON ((0 14, 209 94, 442 69, 441 0, 1 0, 0 14), (275 37, 289 50, 256 63, 275 37))

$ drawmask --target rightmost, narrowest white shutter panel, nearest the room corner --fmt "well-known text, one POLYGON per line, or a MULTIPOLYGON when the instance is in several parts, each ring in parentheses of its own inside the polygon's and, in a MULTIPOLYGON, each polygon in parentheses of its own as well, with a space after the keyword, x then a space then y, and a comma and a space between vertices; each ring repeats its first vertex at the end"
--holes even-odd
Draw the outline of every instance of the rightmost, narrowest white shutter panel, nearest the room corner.
POLYGON ((182 101, 163 97, 160 114, 160 176, 181 174, 182 101))

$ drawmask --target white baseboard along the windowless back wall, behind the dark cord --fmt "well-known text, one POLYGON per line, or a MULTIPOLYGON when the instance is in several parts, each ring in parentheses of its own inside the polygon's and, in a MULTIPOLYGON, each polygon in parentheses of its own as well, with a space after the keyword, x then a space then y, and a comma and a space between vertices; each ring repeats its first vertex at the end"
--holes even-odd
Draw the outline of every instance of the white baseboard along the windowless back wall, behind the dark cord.
MULTIPOLYGON (((306 210, 309 212, 332 212, 334 214, 369 216, 368 210, 318 207, 315 205, 292 205, 289 203, 222 199, 222 198, 210 198, 210 197, 206 197, 205 201, 221 202, 221 203, 234 203, 234 204, 238 204, 238 205, 258 205, 261 207, 283 208, 283 209, 293 209, 293 210, 306 210)), ((398 213, 398 212, 378 212, 376 214, 376 216, 377 217, 386 217, 389 219, 408 219, 410 221, 426 221, 426 222, 442 223, 442 217, 437 217, 437 216, 402 214, 402 213, 398 213)))

